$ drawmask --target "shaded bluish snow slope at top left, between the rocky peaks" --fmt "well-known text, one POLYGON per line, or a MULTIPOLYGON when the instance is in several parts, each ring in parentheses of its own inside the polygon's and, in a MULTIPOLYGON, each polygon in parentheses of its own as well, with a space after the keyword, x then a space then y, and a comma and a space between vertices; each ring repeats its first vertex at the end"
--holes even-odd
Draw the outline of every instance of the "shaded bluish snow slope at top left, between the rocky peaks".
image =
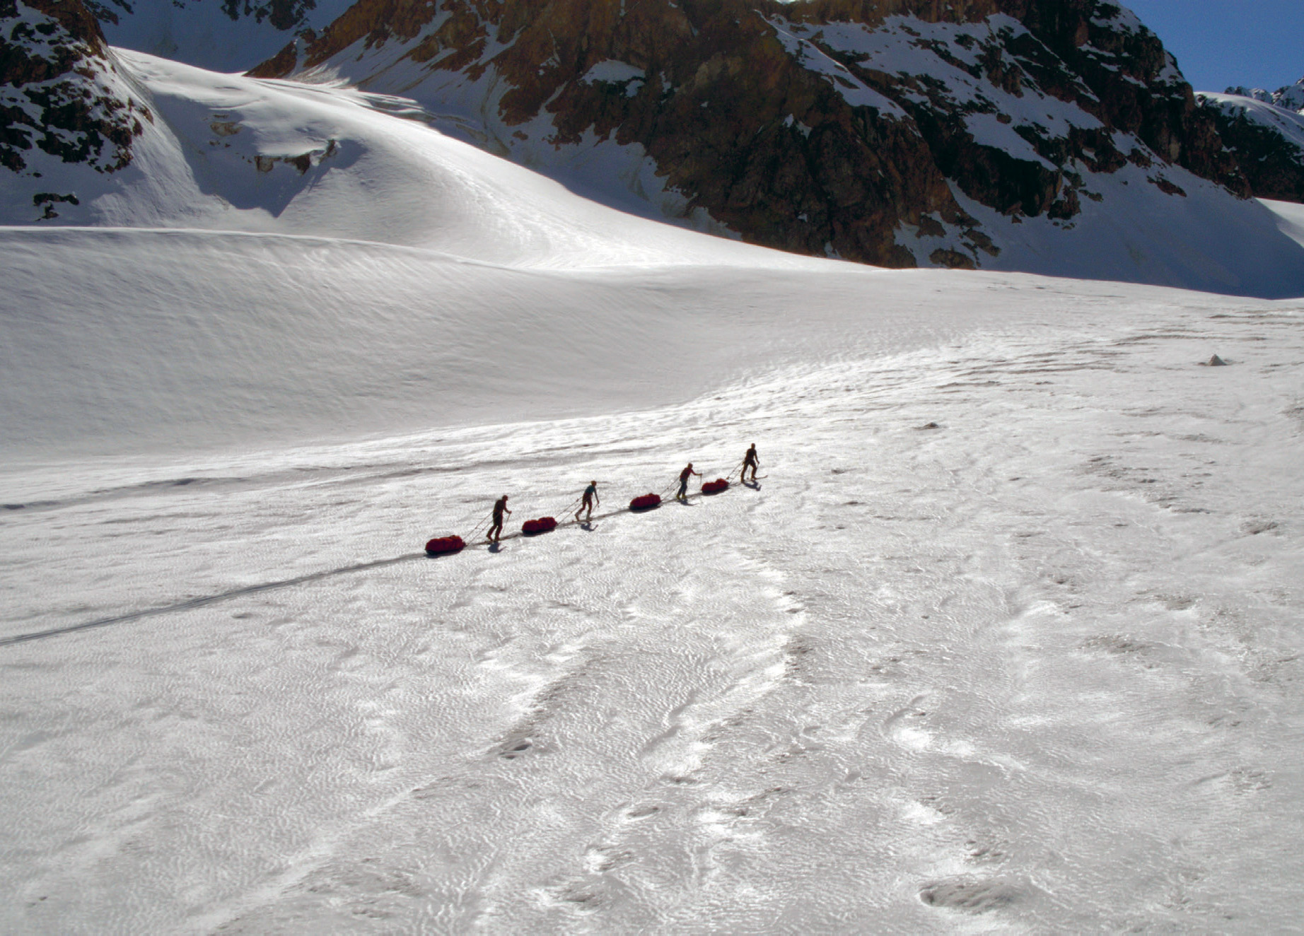
POLYGON ((214 72, 244 72, 312 37, 348 0, 87 0, 113 46, 214 72))

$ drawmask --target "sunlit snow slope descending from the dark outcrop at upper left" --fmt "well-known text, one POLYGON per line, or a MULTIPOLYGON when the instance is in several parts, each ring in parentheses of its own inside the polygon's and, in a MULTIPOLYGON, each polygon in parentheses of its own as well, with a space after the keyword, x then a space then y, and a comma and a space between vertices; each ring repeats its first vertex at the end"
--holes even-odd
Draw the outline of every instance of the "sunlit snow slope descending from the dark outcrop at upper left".
POLYGON ((33 163, 40 177, 3 173, 0 220, 50 223, 30 193, 57 179, 76 194, 57 206, 59 224, 344 237, 514 265, 692 262, 703 245, 716 257, 742 250, 576 198, 386 112, 409 102, 219 76, 137 52, 117 60, 154 115, 132 162, 98 172, 47 158, 33 163))

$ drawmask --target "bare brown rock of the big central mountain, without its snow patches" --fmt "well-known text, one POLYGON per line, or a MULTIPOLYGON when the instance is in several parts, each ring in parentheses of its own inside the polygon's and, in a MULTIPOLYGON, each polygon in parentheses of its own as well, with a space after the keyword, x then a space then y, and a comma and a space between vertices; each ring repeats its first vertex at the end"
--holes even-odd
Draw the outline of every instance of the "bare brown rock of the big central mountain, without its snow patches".
MULTIPOLYGON (((1119 14, 1101 0, 359 0, 314 42, 287 46, 252 73, 284 77, 346 61, 346 51, 398 43, 404 59, 432 73, 473 82, 492 69, 506 89, 494 116, 509 129, 545 116, 557 146, 585 134, 640 145, 690 211, 704 209, 748 241, 914 266, 897 236, 913 229, 948 241, 930 248, 928 262, 974 266, 996 248, 952 185, 1016 220, 1068 222, 1084 197, 1099 199, 1084 173, 1128 164, 1115 132, 1134 134, 1133 162, 1178 164, 1249 194, 1158 38, 1124 27, 1119 14), (896 16, 981 23, 998 13, 1028 31, 970 37, 962 55, 914 42, 983 87, 1068 102, 1101 128, 1056 136, 1018 123, 990 102, 957 96, 926 69, 875 70, 820 30, 888 29, 896 16), (845 73, 803 64, 805 52, 794 53, 780 27, 845 73), (584 80, 608 60, 642 69, 643 78, 584 80), (887 100, 878 107, 863 103, 866 95, 852 104, 844 81, 887 100), (1037 158, 975 138, 974 113, 1018 133, 1037 158)), ((512 139, 498 142, 510 155, 512 139)), ((1180 192, 1162 173, 1154 184, 1180 192)))

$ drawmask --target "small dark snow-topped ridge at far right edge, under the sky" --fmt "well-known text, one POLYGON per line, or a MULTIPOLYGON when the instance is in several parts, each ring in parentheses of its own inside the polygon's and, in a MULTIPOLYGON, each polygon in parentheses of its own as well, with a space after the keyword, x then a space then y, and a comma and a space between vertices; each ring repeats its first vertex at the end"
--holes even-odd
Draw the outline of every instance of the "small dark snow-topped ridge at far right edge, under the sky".
POLYGON ((1215 116, 1256 196, 1304 202, 1304 99, 1290 91, 1282 89, 1271 99, 1266 93, 1201 93, 1200 102, 1215 116))

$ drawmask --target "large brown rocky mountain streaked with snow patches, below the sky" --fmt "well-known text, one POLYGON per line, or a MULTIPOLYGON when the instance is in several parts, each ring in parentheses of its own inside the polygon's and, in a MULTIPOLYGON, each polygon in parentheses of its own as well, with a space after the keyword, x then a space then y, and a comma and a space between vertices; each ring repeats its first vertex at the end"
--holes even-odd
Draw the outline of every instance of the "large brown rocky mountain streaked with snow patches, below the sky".
POLYGON ((1101 0, 360 0, 254 74, 314 70, 608 201, 888 266, 981 266, 978 215, 1071 228, 1124 177, 1251 193, 1101 0))

